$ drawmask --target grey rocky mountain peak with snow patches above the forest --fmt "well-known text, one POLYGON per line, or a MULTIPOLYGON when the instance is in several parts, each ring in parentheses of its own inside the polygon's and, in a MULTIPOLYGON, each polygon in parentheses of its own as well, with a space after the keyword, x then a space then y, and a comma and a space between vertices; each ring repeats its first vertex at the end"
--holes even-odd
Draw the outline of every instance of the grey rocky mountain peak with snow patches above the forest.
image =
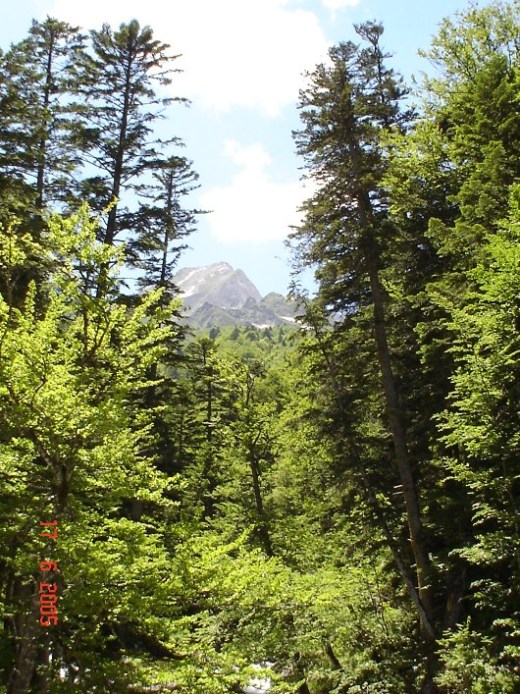
POLYGON ((295 322, 294 302, 276 292, 262 298, 247 275, 228 263, 183 268, 173 282, 184 302, 187 320, 196 328, 270 327, 295 322))

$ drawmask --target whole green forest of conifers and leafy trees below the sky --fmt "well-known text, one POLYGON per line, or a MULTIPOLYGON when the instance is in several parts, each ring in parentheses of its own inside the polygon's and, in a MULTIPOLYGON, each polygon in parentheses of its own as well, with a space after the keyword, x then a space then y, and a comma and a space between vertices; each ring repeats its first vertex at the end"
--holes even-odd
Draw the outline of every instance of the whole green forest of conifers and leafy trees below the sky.
POLYGON ((150 27, 0 52, 1 692, 520 692, 520 2, 415 85, 352 35, 299 97, 295 329, 182 319, 150 27))

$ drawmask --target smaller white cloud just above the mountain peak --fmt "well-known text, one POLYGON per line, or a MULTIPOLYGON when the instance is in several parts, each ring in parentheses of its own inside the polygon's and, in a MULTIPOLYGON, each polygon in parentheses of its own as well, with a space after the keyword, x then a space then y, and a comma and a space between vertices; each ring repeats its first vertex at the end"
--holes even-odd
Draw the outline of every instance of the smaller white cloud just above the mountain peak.
POLYGON ((215 186, 201 196, 212 210, 208 223, 222 243, 260 244, 283 239, 290 225, 298 224, 297 208, 311 195, 299 181, 279 183, 269 175, 271 157, 261 144, 242 146, 235 140, 225 145, 226 155, 240 167, 227 186, 215 186))

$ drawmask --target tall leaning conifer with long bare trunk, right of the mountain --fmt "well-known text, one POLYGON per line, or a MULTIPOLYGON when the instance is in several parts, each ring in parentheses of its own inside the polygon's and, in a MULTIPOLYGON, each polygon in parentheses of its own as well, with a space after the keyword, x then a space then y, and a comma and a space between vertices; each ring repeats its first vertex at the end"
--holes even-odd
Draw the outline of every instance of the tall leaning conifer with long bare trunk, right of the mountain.
MULTIPOLYGON (((320 65, 300 96, 304 129, 296 133, 318 192, 304 205, 301 260, 317 267, 320 296, 346 325, 363 307, 372 313, 386 418, 402 488, 408 533, 417 568, 417 588, 408 583, 425 635, 435 636, 431 566, 425 544, 417 480, 409 456, 404 404, 400 402, 389 341, 387 298, 382 281, 385 250, 392 237, 388 200, 382 189, 386 169, 382 138, 409 120, 405 92, 385 65, 382 27, 356 27, 365 48, 353 43, 331 49, 332 66, 320 65)), ((366 310, 365 309, 365 310, 366 310)))

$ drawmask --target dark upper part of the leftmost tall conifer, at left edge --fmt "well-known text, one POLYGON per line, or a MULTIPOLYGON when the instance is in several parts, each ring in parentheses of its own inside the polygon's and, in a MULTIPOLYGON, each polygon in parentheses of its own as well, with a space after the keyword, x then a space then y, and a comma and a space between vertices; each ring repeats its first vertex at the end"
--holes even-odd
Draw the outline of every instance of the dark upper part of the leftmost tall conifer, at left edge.
MULTIPOLYGON (((23 220, 35 243, 45 209, 70 200, 74 189, 70 76, 83 45, 77 28, 47 18, 33 21, 29 36, 0 59, 0 223, 23 220)), ((31 279, 41 284, 45 275, 33 253, 25 263, 17 271, 20 296, 31 279)))

